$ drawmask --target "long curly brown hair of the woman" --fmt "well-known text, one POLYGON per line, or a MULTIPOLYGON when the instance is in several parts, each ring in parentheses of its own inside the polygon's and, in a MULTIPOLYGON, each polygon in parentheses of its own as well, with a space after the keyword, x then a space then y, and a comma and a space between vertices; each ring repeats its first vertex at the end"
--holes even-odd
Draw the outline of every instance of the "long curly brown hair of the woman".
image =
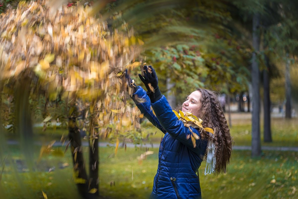
MULTIPOLYGON (((215 143, 216 166, 214 174, 226 173, 232 154, 233 139, 224 111, 218 101, 218 95, 214 91, 201 88, 198 88, 197 91, 201 92, 201 107, 198 116, 203 120, 202 125, 215 129, 213 141, 215 143)), ((201 137, 202 139, 212 139, 205 131, 201 132, 201 137)))

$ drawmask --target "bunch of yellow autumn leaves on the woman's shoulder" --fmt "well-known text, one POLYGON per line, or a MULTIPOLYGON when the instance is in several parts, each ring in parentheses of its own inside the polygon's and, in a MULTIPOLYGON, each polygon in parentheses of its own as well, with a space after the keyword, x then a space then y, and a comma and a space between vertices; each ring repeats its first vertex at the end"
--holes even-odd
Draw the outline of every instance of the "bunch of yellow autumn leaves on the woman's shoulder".
POLYGON ((192 135, 188 136, 188 138, 191 137, 194 148, 196 146, 195 140, 200 139, 200 137, 196 133, 194 133, 190 127, 198 128, 198 129, 200 129, 200 131, 204 130, 204 131, 214 134, 213 129, 208 128, 208 127, 203 127, 202 126, 203 120, 201 118, 198 118, 197 116, 193 115, 191 112, 186 112, 185 114, 181 110, 179 110, 179 113, 175 110, 173 110, 173 112, 175 113, 176 117, 183 122, 184 126, 188 127, 190 132, 192 132, 192 135))

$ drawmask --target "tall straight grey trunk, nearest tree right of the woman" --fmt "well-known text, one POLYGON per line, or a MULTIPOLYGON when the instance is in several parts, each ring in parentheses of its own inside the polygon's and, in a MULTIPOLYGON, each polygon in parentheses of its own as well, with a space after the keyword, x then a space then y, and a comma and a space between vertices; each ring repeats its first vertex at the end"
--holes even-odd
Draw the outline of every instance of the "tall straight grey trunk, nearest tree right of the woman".
POLYGON ((259 66, 257 53, 260 46, 259 25, 260 17, 258 14, 253 16, 253 38, 252 44, 254 52, 252 53, 252 156, 261 155, 260 140, 260 88, 259 88, 259 66))

